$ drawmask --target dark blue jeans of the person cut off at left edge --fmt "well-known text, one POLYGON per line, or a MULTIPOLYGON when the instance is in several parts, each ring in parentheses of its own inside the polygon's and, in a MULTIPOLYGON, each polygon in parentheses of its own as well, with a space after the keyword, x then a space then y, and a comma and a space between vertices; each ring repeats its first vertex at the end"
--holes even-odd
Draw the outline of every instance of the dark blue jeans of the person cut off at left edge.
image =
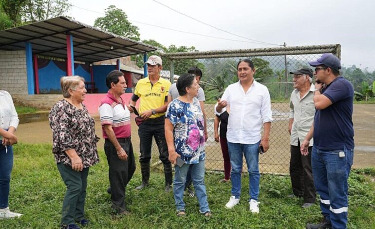
POLYGON ((13 147, 7 146, 8 153, 5 153, 5 146, 0 143, 0 209, 8 207, 10 173, 13 168, 13 147))

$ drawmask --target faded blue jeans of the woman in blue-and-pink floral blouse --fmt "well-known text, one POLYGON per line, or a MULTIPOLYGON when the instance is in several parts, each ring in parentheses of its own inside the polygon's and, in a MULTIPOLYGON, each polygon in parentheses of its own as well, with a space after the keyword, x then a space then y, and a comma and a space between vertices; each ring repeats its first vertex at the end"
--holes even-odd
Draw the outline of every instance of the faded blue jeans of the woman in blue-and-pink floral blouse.
POLYGON ((176 209, 185 210, 184 188, 189 168, 191 168, 191 180, 199 202, 199 211, 201 213, 206 212, 209 208, 205 185, 205 160, 200 160, 198 164, 184 164, 182 167, 174 167, 173 195, 176 209))

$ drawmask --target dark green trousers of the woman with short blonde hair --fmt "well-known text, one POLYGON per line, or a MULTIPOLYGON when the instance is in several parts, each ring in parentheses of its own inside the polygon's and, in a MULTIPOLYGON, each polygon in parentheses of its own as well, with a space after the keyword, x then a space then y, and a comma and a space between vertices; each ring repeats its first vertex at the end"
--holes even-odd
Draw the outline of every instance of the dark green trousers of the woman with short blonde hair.
POLYGON ((58 163, 57 169, 67 188, 62 202, 61 224, 74 224, 84 218, 89 168, 76 172, 71 166, 58 163))

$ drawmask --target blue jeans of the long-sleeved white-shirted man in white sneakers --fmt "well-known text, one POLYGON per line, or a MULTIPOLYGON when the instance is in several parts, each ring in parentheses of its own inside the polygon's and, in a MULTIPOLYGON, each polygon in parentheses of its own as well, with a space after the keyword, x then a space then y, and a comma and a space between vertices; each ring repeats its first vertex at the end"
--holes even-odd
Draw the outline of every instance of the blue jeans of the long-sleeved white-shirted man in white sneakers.
POLYGON ((245 156, 247 171, 249 172, 249 201, 251 199, 258 201, 259 195, 259 154, 258 147, 261 142, 255 144, 241 144, 228 142, 228 150, 230 157, 230 165, 232 172, 230 173, 232 181, 232 195, 237 199, 241 195, 241 172, 242 157, 245 156))

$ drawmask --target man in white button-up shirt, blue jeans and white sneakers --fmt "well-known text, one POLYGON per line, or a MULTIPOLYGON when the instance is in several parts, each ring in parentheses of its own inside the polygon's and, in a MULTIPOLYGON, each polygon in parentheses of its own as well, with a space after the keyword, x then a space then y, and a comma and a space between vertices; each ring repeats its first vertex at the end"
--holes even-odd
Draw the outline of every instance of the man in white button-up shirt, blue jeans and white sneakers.
POLYGON ((232 166, 232 196, 225 205, 231 209, 240 201, 241 171, 243 155, 249 172, 249 206, 250 211, 259 213, 259 154, 258 148, 267 152, 269 133, 272 122, 271 99, 268 89, 256 82, 254 64, 249 59, 242 59, 237 65, 239 81, 229 85, 223 97, 215 107, 220 115, 224 108, 230 106, 226 139, 232 166), (263 137, 261 134, 264 127, 263 137))

